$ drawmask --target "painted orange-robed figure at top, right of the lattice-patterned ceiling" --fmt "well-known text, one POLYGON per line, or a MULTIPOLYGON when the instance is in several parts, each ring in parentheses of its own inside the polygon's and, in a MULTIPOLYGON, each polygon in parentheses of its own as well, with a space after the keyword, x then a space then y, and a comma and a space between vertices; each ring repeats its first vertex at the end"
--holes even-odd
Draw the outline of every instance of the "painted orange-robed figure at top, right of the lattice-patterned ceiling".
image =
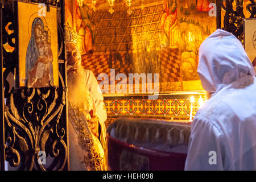
POLYGON ((177 20, 177 2, 176 0, 164 0, 163 14, 161 18, 162 44, 170 46, 171 29, 177 20))

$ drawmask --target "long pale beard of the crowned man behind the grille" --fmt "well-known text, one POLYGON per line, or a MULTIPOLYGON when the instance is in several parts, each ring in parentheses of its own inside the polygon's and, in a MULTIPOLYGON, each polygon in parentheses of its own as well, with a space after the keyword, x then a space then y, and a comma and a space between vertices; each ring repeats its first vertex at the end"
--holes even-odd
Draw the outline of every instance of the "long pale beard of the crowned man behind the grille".
POLYGON ((86 102, 86 87, 85 71, 81 65, 68 66, 68 101, 71 104, 82 106, 86 102), (76 72, 71 72, 69 69, 76 69, 76 72))

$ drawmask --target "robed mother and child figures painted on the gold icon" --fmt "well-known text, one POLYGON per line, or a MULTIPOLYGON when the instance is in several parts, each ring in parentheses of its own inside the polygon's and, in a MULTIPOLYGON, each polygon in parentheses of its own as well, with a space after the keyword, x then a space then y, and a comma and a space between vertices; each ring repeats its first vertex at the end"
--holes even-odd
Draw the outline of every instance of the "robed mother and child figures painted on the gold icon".
POLYGON ((29 88, 53 85, 53 55, 49 34, 43 20, 35 18, 26 53, 26 79, 29 88))

